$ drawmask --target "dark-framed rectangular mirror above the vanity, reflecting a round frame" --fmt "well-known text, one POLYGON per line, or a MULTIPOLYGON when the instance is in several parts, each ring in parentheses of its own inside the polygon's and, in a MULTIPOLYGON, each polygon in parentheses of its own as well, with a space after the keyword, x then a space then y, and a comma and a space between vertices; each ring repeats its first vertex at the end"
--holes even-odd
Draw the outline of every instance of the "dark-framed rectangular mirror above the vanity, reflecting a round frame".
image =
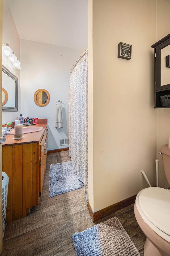
POLYGON ((2 112, 17 111, 18 78, 2 65, 2 112))

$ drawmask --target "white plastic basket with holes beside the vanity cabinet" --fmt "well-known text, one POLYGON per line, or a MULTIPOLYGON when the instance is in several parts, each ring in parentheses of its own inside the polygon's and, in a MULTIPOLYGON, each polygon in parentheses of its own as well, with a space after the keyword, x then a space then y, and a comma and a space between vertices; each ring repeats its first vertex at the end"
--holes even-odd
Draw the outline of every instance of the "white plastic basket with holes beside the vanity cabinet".
POLYGON ((8 196, 8 183, 9 177, 5 172, 2 172, 2 239, 5 233, 5 218, 6 218, 6 205, 8 196))

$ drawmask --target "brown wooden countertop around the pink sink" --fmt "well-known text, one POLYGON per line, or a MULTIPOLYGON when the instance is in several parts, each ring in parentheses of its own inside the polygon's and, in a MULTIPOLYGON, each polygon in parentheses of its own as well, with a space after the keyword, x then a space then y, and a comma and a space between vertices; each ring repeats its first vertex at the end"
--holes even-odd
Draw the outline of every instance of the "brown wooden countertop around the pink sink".
POLYGON ((6 141, 2 144, 2 147, 39 142, 43 137, 44 130, 47 127, 47 123, 36 124, 36 126, 42 126, 43 129, 40 132, 24 133, 23 134, 24 138, 22 139, 18 139, 18 140, 12 139, 14 137, 14 134, 5 135, 6 141))

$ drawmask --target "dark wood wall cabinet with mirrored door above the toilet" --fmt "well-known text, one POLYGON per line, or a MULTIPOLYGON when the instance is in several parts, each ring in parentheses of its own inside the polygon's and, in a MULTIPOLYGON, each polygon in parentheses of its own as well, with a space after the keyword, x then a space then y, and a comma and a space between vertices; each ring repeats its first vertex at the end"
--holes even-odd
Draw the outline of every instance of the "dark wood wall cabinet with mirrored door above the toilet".
POLYGON ((170 34, 151 47, 154 48, 155 108, 170 108, 170 34))

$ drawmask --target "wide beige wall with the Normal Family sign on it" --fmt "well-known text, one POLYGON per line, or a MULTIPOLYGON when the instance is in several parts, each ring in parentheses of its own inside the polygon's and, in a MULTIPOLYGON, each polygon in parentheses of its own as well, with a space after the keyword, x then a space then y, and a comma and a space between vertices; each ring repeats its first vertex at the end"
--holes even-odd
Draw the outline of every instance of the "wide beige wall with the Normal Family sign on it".
POLYGON ((156 1, 89 0, 89 5, 89 203, 96 212, 148 187, 142 170, 156 185, 151 48, 156 1), (132 45, 130 60, 117 58, 119 42, 132 45))

